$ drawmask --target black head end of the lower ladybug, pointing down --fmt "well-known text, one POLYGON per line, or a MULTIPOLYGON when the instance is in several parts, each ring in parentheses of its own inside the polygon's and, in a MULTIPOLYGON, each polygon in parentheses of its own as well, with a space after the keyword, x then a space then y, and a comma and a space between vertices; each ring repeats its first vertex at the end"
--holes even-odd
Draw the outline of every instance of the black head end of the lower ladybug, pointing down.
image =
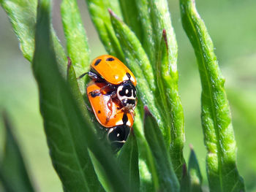
POLYGON ((129 135, 129 126, 121 125, 110 128, 108 131, 108 140, 111 142, 113 150, 119 150, 123 147, 129 135))

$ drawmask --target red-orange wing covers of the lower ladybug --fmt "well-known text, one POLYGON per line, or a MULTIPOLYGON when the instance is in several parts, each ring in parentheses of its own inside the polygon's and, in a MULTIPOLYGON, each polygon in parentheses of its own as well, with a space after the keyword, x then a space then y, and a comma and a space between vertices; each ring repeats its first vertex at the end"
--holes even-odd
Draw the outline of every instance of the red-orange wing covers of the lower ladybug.
POLYGON ((104 85, 106 84, 102 82, 95 83, 94 81, 91 81, 87 86, 87 96, 98 122, 106 128, 120 126, 124 124, 124 115, 127 115, 127 126, 132 127, 134 114, 132 112, 124 113, 121 110, 122 107, 121 104, 118 104, 118 101, 111 100, 110 95, 106 93, 99 93, 97 96, 91 96, 91 91, 100 90, 104 85), (108 116, 109 120, 107 120, 108 116))

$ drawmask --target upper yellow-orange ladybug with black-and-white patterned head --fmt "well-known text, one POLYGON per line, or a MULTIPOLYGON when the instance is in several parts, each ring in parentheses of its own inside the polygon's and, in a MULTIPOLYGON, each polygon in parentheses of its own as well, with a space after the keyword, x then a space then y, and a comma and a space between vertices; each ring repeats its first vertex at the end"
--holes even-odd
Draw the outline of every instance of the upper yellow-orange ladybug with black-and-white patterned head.
MULTIPOLYGON (((101 55, 91 62, 91 69, 86 72, 94 82, 105 82, 105 85, 94 94, 108 89, 110 99, 117 98, 125 112, 133 112, 137 104, 136 79, 134 74, 118 58, 112 55, 101 55)), ((83 77, 82 74, 80 77, 83 77)))

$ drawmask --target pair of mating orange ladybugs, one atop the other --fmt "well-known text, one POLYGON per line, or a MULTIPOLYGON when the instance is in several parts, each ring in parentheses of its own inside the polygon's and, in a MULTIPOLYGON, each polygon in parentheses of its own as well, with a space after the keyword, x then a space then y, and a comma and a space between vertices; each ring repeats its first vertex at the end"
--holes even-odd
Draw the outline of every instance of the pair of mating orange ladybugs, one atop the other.
POLYGON ((86 91, 94 115, 108 131, 111 145, 119 149, 127 140, 135 118, 135 76, 112 55, 95 58, 86 74, 91 78, 86 91))

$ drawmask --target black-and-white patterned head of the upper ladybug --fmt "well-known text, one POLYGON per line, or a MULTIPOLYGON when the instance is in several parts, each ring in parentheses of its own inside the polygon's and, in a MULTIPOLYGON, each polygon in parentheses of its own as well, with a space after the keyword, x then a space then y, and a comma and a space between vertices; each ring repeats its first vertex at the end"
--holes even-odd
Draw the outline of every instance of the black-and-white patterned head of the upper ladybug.
POLYGON ((128 110, 135 108, 137 91, 132 82, 126 81, 119 85, 116 93, 123 107, 126 107, 128 110))

